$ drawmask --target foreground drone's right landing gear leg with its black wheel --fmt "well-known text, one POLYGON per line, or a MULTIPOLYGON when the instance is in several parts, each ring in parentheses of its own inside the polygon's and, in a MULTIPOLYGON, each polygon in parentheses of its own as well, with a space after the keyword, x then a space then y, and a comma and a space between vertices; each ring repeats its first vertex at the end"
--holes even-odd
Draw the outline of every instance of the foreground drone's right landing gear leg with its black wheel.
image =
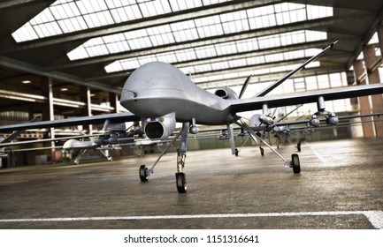
POLYGON ((243 128, 243 129, 245 129, 246 131, 248 131, 250 136, 252 136, 253 138, 257 138, 257 140, 260 141, 260 150, 261 150, 261 154, 264 153, 264 152, 263 152, 263 151, 264 151, 264 150, 263 150, 263 149, 264 149, 264 148, 263 148, 263 145, 264 145, 264 146, 268 146, 268 147, 272 150, 272 152, 274 152, 275 154, 277 154, 277 155, 280 157, 280 159, 281 159, 282 161, 285 162, 285 166, 287 166, 288 168, 293 168, 293 172, 294 172, 295 174, 298 174, 298 173, 301 172, 301 163, 300 163, 300 161, 299 161, 299 156, 298 156, 297 153, 293 153, 293 154, 291 155, 291 161, 287 161, 285 158, 283 158, 282 155, 280 155, 280 153, 277 152, 277 150, 275 150, 274 148, 272 148, 272 146, 270 146, 267 142, 265 142, 263 138, 260 138, 260 137, 257 135, 256 132, 254 132, 253 130, 251 130, 251 128, 249 127, 248 124, 243 123, 242 121, 241 121, 241 122, 236 121, 235 123, 236 123, 238 126, 240 126, 241 128, 243 128), (262 147, 261 147, 261 146, 262 146, 262 147))

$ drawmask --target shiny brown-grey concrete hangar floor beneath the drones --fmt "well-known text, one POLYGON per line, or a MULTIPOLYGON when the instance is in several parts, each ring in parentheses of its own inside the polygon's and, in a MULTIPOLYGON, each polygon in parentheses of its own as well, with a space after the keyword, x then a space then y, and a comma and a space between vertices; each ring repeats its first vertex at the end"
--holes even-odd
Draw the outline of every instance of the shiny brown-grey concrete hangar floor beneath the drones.
POLYGON ((382 146, 303 144, 299 175, 268 149, 188 152, 186 194, 175 186, 176 153, 148 183, 138 168, 155 154, 0 169, 0 228, 383 228, 382 146))

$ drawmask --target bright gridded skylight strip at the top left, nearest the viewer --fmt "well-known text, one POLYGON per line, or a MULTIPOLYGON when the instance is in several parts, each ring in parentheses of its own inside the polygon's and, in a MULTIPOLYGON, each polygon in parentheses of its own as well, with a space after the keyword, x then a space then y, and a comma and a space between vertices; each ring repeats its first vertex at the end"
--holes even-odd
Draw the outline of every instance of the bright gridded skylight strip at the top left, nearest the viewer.
POLYGON ((34 19, 21 26, 12 36, 17 42, 31 41, 64 34, 64 32, 71 33, 91 27, 106 26, 200 6, 202 6, 201 1, 185 0, 170 2, 167 0, 57 0, 34 19), (51 23, 58 23, 63 30, 57 32, 57 25, 51 23), (50 28, 54 30, 50 30, 50 28))

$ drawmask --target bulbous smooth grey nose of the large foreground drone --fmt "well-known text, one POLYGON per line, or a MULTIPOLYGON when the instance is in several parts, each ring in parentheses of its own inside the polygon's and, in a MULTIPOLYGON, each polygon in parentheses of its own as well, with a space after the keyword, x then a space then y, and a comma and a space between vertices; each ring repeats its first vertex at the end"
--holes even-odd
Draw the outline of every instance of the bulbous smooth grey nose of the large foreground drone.
POLYGON ((122 89, 120 104, 141 117, 165 116, 190 100, 198 87, 172 64, 152 62, 137 68, 122 89))

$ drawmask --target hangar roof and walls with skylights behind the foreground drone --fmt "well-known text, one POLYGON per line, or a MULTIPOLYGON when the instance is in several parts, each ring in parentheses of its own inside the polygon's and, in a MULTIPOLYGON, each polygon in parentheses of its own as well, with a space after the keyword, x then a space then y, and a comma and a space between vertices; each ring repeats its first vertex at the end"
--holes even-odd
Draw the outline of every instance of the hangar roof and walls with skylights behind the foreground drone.
MULTIPOLYGON (((1 125, 40 115, 55 120, 123 112, 119 95, 126 78, 151 61, 175 65, 209 91, 229 86, 239 94, 252 75, 243 98, 333 41, 338 42, 332 50, 272 94, 380 83, 382 74, 379 0, 14 0, 0 3, 0 19, 1 125)), ((326 108, 340 116, 377 113, 383 112, 381 101, 381 95, 344 99, 326 102, 326 108)), ((284 116, 295 107, 275 112, 284 116)), ((315 111, 316 104, 304 105, 289 118, 315 111)), ((19 140, 100 128, 26 131, 19 140)), ((378 121, 349 127, 344 135, 338 131, 345 138, 383 136, 378 121)), ((313 139, 325 136, 318 131, 313 139)), ((34 145, 42 146, 47 144, 34 145)), ((42 155, 56 161, 50 150, 18 155, 24 164, 42 155)))

